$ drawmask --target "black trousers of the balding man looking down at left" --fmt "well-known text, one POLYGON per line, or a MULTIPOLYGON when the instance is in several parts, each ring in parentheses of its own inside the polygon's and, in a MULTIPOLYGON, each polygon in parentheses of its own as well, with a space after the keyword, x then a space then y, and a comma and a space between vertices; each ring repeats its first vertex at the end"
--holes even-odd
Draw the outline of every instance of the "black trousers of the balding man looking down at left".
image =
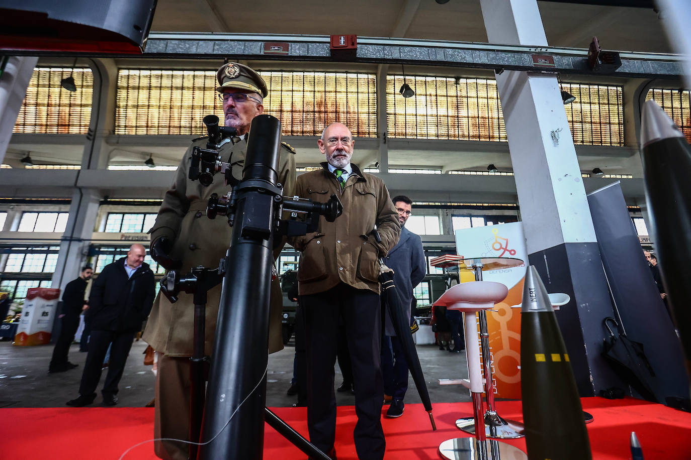
POLYGON ((104 395, 117 394, 117 383, 122 378, 127 355, 132 347, 134 332, 115 332, 110 330, 92 330, 88 341, 86 364, 82 373, 82 383, 79 384, 79 394, 89 396, 95 394, 98 381, 101 379, 103 359, 106 357, 108 346, 111 348, 111 362, 108 364, 106 383, 101 392, 104 395))

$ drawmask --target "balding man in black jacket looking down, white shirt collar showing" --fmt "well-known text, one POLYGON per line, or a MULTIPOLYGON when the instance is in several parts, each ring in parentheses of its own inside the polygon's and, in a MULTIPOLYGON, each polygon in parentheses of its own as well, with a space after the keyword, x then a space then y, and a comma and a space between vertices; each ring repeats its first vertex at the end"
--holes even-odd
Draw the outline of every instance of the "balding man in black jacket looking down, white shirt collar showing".
POLYGON ((154 297, 153 272, 144 263, 146 250, 133 244, 123 257, 108 264, 94 281, 86 319, 91 323, 91 339, 79 385, 79 397, 68 406, 82 407, 93 403, 101 379, 103 359, 112 343, 110 366, 102 394, 105 406, 117 404, 117 383, 136 332, 149 316, 154 297))

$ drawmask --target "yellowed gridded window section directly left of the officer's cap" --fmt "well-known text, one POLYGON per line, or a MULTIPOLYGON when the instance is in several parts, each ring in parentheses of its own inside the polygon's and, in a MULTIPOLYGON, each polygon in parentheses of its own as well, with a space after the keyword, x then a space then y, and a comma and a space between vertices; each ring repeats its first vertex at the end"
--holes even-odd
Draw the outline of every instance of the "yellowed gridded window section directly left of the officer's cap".
POLYGON ((120 69, 115 134, 206 134, 202 118, 223 120, 215 91, 210 70, 120 69))

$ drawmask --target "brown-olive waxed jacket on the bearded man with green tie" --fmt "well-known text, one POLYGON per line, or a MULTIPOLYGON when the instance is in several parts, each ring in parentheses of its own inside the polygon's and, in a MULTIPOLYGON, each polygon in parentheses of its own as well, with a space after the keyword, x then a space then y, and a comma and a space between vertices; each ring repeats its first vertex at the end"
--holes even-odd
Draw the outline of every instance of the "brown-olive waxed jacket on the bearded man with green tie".
POLYGON ((363 174, 351 163, 352 174, 341 190, 339 182, 321 163, 322 169, 298 177, 295 194, 312 201, 328 201, 337 194, 343 203, 343 214, 333 222, 319 219, 319 230, 288 241, 302 254, 298 268, 301 295, 317 294, 348 284, 379 294, 379 254, 396 246, 401 226, 384 181, 363 174), (371 232, 377 225, 381 244, 371 232))

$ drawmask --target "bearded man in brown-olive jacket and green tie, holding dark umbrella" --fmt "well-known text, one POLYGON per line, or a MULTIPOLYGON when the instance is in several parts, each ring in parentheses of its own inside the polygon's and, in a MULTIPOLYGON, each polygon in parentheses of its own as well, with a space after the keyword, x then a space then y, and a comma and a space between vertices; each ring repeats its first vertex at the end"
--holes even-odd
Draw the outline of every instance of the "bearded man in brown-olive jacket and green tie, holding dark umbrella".
POLYGON ((396 245, 401 226, 384 181, 350 163, 354 141, 347 126, 331 124, 317 144, 327 161, 321 163, 321 170, 297 179, 295 194, 325 202, 335 193, 343 203, 343 214, 334 222, 321 217, 319 231, 289 240, 301 252, 298 283, 305 315, 307 427, 310 441, 336 458, 334 364, 341 319, 352 359, 357 457, 381 460, 386 441, 381 429, 384 386, 377 259, 396 245), (381 243, 372 236, 375 226, 381 243))

